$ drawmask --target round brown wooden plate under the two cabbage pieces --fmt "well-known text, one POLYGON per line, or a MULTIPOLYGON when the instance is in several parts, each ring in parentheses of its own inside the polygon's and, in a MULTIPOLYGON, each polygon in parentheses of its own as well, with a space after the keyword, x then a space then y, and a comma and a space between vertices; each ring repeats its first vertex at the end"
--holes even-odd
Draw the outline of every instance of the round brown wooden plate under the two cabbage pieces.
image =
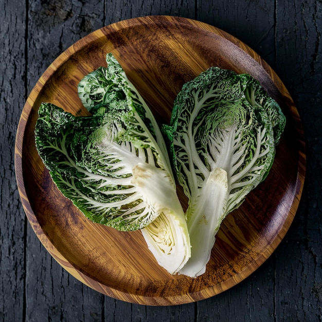
MULTIPOLYGON (((305 176, 300 119, 281 80, 251 48, 207 24, 170 16, 139 17, 99 29, 63 52, 24 106, 15 145, 16 180, 28 220, 47 251, 89 287, 143 305, 176 305, 216 295, 254 272, 294 218, 305 176), (53 185, 34 144, 41 102, 85 114, 79 80, 113 52, 157 121, 168 123, 182 85, 210 66, 248 73, 282 106, 287 127, 266 181, 224 220, 204 275, 171 276, 151 256, 140 231, 93 224, 53 185)), ((181 196, 185 205, 185 199, 181 196)))

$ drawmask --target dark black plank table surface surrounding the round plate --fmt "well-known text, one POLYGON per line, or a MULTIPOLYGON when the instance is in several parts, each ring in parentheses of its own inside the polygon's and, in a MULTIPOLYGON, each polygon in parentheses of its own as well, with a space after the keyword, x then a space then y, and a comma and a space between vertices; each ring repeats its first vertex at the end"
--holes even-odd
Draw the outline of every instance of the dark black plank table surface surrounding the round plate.
POLYGON ((0 320, 321 321, 321 33, 320 0, 1 0, 0 320), (199 20, 229 32, 258 52, 291 93, 307 140, 302 199, 274 254, 234 288, 171 307, 115 300, 64 271, 30 227, 14 171, 17 124, 43 71, 91 31, 145 15, 199 20))

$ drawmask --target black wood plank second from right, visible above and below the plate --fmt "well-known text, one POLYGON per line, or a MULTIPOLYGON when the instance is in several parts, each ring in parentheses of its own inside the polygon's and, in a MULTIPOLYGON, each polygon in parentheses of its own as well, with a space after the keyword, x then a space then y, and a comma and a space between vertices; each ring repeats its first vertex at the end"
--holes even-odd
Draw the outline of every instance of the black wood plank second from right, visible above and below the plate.
MULTIPOLYGON (((199 2, 198 19, 223 29, 274 63, 275 7, 269 0, 199 2)), ((236 287, 198 302, 198 320, 270 321, 275 314, 275 258, 236 287)))

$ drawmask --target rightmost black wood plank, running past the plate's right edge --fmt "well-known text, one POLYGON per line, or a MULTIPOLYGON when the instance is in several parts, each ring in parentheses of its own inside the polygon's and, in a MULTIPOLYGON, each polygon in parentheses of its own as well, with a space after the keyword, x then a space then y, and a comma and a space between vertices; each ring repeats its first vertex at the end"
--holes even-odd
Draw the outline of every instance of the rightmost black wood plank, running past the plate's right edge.
POLYGON ((322 3, 285 1, 276 13, 276 70, 289 89, 307 139, 305 190, 276 257, 276 318, 322 319, 322 3))

